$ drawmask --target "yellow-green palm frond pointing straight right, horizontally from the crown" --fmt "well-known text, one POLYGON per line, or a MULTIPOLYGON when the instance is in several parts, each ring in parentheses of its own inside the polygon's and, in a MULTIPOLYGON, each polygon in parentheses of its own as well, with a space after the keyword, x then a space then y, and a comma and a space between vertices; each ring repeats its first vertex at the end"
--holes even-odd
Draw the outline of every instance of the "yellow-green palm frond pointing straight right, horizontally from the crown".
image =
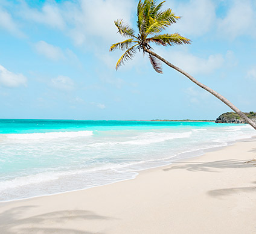
POLYGON ((182 35, 179 35, 176 32, 174 34, 155 35, 154 37, 147 38, 147 42, 155 42, 156 44, 162 46, 172 46, 190 44, 191 40, 186 37, 182 37, 182 35))

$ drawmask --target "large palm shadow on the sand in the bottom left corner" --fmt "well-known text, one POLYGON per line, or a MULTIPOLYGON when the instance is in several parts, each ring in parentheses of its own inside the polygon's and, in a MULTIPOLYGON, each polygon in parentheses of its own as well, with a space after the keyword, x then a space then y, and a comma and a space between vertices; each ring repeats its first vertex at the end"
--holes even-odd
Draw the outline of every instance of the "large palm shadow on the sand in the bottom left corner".
MULTIPOLYGON (((54 233, 54 234, 92 234, 85 230, 60 228, 59 226, 72 221, 86 220, 113 220, 114 218, 97 215, 91 211, 67 210, 49 212, 42 215, 34 215, 29 218, 20 218, 28 209, 36 208, 36 206, 19 206, 11 208, 0 214, 0 233, 4 234, 29 234, 29 233, 54 233), (45 227, 46 221, 50 221, 51 226, 45 227), (42 227, 44 226, 44 227, 42 227), (58 227, 54 227, 58 226, 58 227)), ((99 234, 103 234, 97 232, 99 234)))

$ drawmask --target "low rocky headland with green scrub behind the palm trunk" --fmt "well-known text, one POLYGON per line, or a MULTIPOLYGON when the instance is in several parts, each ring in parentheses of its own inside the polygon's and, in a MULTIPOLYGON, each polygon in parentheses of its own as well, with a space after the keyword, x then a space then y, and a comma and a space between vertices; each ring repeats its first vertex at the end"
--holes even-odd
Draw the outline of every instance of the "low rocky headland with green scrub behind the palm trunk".
MULTIPOLYGON (((256 112, 250 111, 245 114, 256 123, 256 112)), ((215 121, 216 123, 245 123, 245 121, 235 112, 226 112, 221 114, 215 121)))

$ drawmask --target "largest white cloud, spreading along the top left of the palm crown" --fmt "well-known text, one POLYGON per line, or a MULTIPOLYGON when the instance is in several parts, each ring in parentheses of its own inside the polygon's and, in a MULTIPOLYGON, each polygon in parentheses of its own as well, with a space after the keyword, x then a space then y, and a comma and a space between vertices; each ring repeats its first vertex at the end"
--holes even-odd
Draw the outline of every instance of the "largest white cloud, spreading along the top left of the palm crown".
MULTIPOLYGON (((136 4, 126 0, 94 0, 46 2, 40 10, 22 2, 19 16, 25 20, 42 23, 62 30, 72 38, 75 45, 90 43, 95 37, 102 40, 97 46, 118 38, 114 20, 125 19, 130 22, 130 13, 136 4)), ((135 10, 135 9, 133 9, 135 10)), ((90 46, 91 46, 90 45, 90 46)))

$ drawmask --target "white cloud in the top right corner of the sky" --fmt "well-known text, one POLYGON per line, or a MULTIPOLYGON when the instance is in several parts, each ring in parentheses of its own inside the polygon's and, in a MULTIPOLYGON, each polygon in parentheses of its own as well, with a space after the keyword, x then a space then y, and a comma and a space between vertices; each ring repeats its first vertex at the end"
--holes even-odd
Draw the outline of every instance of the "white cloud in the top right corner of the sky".
POLYGON ((233 5, 223 19, 219 19, 219 35, 228 35, 228 38, 235 38, 239 35, 256 36, 255 7, 249 0, 232 1, 233 5))

